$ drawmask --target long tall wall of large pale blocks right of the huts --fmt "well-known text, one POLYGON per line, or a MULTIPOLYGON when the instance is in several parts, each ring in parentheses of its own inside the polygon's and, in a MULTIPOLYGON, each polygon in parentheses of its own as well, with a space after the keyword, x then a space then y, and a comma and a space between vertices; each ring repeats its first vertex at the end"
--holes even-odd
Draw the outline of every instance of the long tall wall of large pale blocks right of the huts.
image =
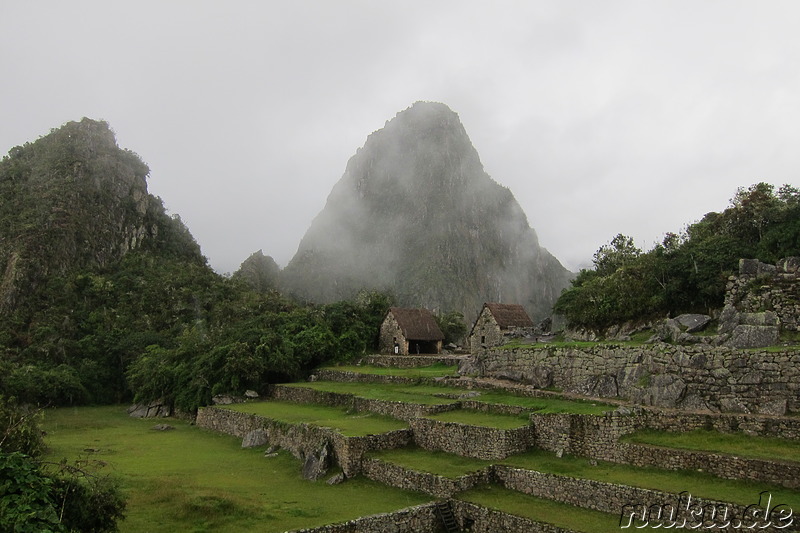
POLYGON ((473 356, 459 372, 686 410, 800 412, 800 351, 667 344, 542 346, 473 356))

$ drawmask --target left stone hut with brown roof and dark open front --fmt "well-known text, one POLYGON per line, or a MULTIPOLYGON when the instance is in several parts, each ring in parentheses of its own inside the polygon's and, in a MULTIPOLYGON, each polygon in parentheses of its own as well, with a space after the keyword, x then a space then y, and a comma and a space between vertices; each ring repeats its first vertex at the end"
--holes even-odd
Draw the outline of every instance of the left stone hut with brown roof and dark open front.
POLYGON ((427 309, 392 307, 381 324, 381 353, 438 354, 444 333, 427 309))

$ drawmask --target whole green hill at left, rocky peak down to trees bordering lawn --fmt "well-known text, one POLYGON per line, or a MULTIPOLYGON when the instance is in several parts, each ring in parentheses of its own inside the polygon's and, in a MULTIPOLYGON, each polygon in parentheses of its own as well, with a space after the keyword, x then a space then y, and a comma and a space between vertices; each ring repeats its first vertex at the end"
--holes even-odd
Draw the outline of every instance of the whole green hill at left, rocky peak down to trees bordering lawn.
POLYGON ((89 119, 0 163, 0 394, 191 410, 374 347, 388 296, 299 305, 263 256, 217 275, 147 173, 89 119))

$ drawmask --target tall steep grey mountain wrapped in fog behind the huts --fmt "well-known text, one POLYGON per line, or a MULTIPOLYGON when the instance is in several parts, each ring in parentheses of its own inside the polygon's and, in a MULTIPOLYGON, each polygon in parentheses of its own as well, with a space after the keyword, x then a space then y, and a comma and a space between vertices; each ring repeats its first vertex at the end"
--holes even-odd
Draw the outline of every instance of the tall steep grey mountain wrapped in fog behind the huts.
POLYGON ((570 278, 484 171, 458 115, 417 102, 350 158, 282 288, 320 303, 389 290, 400 305, 468 318, 483 302, 519 303, 541 319, 570 278))

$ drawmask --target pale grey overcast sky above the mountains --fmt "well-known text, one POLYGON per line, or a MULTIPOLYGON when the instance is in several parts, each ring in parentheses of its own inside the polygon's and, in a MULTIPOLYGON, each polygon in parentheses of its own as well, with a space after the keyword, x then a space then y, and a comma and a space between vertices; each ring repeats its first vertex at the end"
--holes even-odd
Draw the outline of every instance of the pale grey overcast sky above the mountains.
POLYGON ((366 137, 444 102, 577 270, 800 184, 799 24, 795 0, 2 0, 0 152, 108 121, 232 272, 285 266, 366 137))

